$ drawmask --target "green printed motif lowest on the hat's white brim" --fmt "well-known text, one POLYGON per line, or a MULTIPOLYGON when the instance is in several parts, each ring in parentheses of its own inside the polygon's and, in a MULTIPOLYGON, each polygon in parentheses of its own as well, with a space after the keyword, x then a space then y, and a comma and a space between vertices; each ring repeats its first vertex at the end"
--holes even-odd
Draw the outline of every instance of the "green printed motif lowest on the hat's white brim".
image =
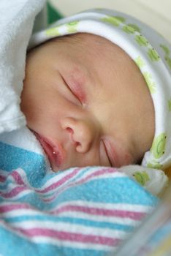
POLYGON ((156 159, 162 157, 162 155, 164 154, 166 139, 167 139, 167 134, 165 132, 161 133, 156 138, 154 138, 153 144, 151 147, 151 153, 153 154, 153 157, 155 157, 156 159))

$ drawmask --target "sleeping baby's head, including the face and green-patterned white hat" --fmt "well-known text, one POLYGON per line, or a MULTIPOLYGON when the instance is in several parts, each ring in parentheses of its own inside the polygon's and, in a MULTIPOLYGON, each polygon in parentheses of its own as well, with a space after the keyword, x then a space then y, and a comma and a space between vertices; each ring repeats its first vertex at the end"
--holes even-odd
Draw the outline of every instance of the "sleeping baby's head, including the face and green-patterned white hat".
POLYGON ((34 34, 20 106, 54 171, 170 166, 169 47, 145 24, 110 10, 34 34))

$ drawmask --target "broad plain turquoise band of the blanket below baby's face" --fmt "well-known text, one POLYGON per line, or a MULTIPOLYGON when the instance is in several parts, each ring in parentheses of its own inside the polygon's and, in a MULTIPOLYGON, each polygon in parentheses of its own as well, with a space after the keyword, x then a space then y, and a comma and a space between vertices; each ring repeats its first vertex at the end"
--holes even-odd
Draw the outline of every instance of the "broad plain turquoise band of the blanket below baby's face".
POLYGON ((58 195, 55 204, 70 200, 83 200, 97 203, 130 203, 155 206, 158 199, 148 193, 131 178, 99 178, 86 181, 86 184, 73 186, 58 195))

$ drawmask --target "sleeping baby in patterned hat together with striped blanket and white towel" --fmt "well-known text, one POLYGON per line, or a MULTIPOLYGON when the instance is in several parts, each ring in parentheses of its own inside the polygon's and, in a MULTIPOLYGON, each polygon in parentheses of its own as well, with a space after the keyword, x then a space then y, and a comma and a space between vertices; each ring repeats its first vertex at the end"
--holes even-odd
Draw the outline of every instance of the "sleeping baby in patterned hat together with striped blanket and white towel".
POLYGON ((0 1, 1 254, 106 255, 168 184, 170 45, 110 10, 31 37, 45 1, 9 2, 0 1))

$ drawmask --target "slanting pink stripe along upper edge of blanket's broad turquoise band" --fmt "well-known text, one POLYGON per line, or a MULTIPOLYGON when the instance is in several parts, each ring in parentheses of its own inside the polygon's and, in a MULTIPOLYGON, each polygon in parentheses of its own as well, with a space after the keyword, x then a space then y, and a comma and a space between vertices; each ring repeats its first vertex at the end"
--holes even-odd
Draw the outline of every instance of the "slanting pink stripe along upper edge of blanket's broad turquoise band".
POLYGON ((66 189, 69 189, 69 187, 74 187, 75 185, 80 185, 80 184, 83 184, 85 183, 86 181, 90 180, 91 178, 94 178, 96 176, 99 176, 99 175, 103 175, 103 174, 106 174, 106 173, 116 173, 117 170, 114 169, 114 168, 103 168, 101 167, 100 170, 96 170, 94 171, 94 173, 91 173, 90 175, 86 176, 86 178, 82 178, 80 179, 79 181, 75 181, 75 182, 71 182, 69 184, 66 184, 66 187, 62 187, 61 189, 58 189, 58 192, 56 192, 55 195, 52 195, 51 197, 48 197, 48 198, 45 198, 43 199, 45 202, 50 202, 50 201, 53 201, 56 199, 56 197, 61 193, 61 192, 64 192, 66 189))

